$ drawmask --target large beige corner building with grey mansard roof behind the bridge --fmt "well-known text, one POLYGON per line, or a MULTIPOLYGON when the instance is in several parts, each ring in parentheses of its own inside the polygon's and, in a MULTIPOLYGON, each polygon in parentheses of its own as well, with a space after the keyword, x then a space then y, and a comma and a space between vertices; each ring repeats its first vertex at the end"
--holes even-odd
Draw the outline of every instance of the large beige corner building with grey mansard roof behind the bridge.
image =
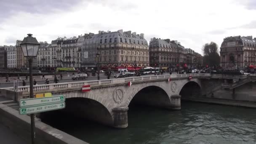
POLYGON ((104 32, 85 34, 82 47, 82 65, 85 69, 96 67, 99 53, 99 64, 107 66, 149 66, 149 47, 144 34, 136 32, 104 32))

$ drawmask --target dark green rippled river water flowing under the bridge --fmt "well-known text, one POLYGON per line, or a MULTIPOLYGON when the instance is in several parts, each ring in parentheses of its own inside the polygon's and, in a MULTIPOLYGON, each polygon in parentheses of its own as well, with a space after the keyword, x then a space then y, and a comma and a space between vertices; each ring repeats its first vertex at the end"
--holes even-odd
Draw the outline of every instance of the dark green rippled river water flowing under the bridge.
POLYGON ((130 107, 128 128, 55 115, 43 122, 90 144, 256 144, 256 109, 181 101, 181 110, 130 107))

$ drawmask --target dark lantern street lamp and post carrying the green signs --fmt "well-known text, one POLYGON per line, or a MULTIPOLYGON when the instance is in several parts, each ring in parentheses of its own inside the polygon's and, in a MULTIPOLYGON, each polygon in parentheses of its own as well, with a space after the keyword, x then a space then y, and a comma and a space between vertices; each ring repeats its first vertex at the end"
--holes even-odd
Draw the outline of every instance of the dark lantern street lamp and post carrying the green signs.
MULTIPOLYGON (((24 57, 27 57, 29 61, 29 89, 30 89, 30 98, 34 98, 33 94, 33 77, 32 77, 32 62, 33 58, 37 56, 39 49, 39 43, 35 37, 32 37, 32 34, 27 34, 27 37, 24 37, 21 45, 22 52, 24 57)), ((30 114, 31 119, 31 142, 35 144, 35 114, 30 114)))

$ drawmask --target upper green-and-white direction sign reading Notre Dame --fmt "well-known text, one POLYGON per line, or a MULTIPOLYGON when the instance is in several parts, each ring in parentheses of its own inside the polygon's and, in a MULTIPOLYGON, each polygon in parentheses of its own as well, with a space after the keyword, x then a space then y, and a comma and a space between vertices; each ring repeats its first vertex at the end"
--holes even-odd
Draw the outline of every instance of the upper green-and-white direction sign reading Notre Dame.
POLYGON ((20 107, 28 107, 28 106, 36 106, 41 104, 50 104, 56 102, 64 102, 65 96, 52 96, 52 97, 44 97, 44 98, 32 98, 32 99, 21 99, 19 101, 20 107))

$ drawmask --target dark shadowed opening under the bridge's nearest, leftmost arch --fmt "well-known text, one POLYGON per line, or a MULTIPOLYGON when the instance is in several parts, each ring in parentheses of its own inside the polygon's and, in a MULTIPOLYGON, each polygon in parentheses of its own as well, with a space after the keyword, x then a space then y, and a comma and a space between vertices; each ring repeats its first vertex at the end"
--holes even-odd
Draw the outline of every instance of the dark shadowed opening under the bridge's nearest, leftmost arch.
POLYGON ((40 114, 43 122, 49 125, 58 125, 58 127, 67 126, 67 123, 61 124, 61 121, 89 120, 104 125, 113 125, 112 116, 109 110, 98 101, 88 98, 69 98, 66 99, 66 108, 56 111, 43 112, 40 114), (56 122, 54 119, 59 119, 56 122), (64 118, 65 120, 63 120, 64 118))

